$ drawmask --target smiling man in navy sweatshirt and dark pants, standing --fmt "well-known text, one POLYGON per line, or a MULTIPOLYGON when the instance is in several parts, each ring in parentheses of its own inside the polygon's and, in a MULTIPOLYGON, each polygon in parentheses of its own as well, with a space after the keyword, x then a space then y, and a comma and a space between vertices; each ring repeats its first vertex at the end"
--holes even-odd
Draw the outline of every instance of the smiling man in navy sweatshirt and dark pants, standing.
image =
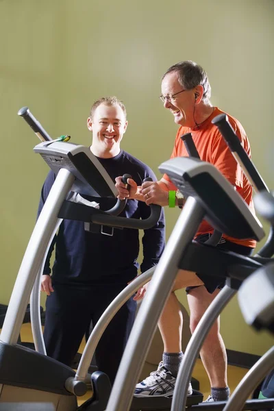
MULTIPOLYGON (((115 177, 129 173, 142 184, 146 177, 156 177, 149 167, 121 149, 127 129, 125 105, 116 97, 103 97, 92 105, 88 117, 92 132, 90 150, 97 156, 115 182, 115 177)), ((49 171, 42 187, 39 210, 42 210, 55 175, 49 171)), ((83 196, 110 209, 116 199, 83 196)), ((150 208, 135 199, 127 201, 121 216, 146 219, 150 208)), ((105 234, 86 232, 84 222, 64 220, 55 236, 42 276, 42 291, 47 293, 44 338, 47 355, 71 365, 87 329, 137 275, 139 233, 137 229, 104 227, 105 234), (55 246, 52 275, 49 260, 55 246)), ((164 214, 142 236, 143 273, 158 263, 164 249, 164 214)), ((134 297, 114 316, 97 346, 98 369, 114 381, 136 314, 134 297)))

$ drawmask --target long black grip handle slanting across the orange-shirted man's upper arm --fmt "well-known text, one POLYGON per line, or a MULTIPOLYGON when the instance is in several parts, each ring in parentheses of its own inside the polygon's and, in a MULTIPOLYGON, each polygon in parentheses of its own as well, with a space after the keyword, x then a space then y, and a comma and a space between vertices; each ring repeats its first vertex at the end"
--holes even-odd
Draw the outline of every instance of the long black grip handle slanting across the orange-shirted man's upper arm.
POLYGON ((250 184, 257 190, 269 191, 264 180, 260 176, 260 173, 254 166, 253 162, 250 160, 247 152, 240 144, 238 136, 235 134, 232 125, 229 123, 227 114, 219 114, 219 116, 214 117, 212 124, 216 125, 219 128, 225 142, 227 143, 229 149, 232 151, 232 154, 236 158, 236 161, 242 167, 247 179, 249 179, 250 184))

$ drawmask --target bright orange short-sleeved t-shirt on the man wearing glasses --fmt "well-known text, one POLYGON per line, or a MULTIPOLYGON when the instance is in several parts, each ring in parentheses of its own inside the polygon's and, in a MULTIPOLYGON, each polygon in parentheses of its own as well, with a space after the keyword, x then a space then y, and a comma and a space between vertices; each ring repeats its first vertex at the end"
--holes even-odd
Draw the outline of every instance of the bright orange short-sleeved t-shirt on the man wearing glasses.
MULTIPOLYGON (((208 119, 206 119, 206 121, 199 125, 199 129, 197 129, 197 127, 196 129, 190 129, 189 127, 182 126, 179 127, 171 158, 188 157, 188 152, 186 151, 184 142, 181 140, 181 136, 191 132, 193 142, 197 148, 201 160, 213 164, 233 186, 236 186, 238 193, 247 202, 249 208, 251 208, 251 212, 255 214, 252 199, 252 186, 247 180, 247 177, 245 177, 241 167, 234 159, 234 156, 227 146, 227 143, 221 136, 218 127, 211 123, 212 119, 221 113, 223 112, 219 110, 219 108, 214 108, 214 112, 210 117, 208 117, 208 119)), ((229 118, 229 123, 232 125, 234 132, 236 132, 240 142, 242 143, 242 147, 245 149, 250 158, 251 150, 245 130, 236 119, 228 114, 227 116, 229 118)), ((171 182, 168 175, 164 174, 163 178, 170 182, 174 189, 177 189, 171 182)), ((197 236, 199 234, 206 234, 210 232, 213 232, 212 226, 206 220, 203 220, 197 232, 197 236)), ((256 247, 256 240, 253 239, 239 240, 238 238, 231 238, 226 235, 223 235, 223 237, 240 245, 245 245, 252 248, 256 247)))

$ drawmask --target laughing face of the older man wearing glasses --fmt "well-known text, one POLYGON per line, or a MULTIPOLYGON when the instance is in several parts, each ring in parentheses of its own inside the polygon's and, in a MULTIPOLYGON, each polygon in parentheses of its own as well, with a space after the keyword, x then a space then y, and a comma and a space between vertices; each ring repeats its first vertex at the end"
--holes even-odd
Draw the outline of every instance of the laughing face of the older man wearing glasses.
POLYGON ((168 97, 164 100, 164 108, 170 110, 174 116, 176 124, 184 125, 184 127, 193 127, 193 112, 195 108, 195 90, 184 90, 184 87, 179 84, 176 71, 166 74, 162 80, 162 96, 168 97), (178 93, 175 97, 171 96, 178 93), (169 99, 171 101, 169 101, 169 99))

